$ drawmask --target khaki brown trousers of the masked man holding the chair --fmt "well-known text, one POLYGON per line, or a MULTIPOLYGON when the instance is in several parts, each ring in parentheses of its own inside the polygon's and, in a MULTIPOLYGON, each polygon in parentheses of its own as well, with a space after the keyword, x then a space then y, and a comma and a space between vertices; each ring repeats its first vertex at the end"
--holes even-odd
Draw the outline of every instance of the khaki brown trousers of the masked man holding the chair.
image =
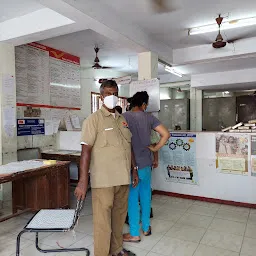
POLYGON ((94 256, 122 251, 128 194, 128 185, 92 189, 94 256))

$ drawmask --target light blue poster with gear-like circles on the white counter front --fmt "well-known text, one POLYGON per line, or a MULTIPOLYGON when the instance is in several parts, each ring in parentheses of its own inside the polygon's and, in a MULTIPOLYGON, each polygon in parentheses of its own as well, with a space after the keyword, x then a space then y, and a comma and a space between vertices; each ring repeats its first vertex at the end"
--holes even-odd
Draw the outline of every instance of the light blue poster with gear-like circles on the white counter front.
POLYGON ((198 184, 196 134, 171 133, 160 158, 167 182, 198 184))

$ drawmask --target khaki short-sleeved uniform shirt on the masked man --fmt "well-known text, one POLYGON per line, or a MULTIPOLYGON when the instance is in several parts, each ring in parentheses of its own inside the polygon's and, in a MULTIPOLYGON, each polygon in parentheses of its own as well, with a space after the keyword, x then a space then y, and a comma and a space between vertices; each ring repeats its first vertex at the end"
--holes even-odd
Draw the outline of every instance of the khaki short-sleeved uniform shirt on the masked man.
POLYGON ((83 123, 82 143, 92 146, 92 188, 128 185, 131 182, 131 132, 122 115, 104 107, 83 123))

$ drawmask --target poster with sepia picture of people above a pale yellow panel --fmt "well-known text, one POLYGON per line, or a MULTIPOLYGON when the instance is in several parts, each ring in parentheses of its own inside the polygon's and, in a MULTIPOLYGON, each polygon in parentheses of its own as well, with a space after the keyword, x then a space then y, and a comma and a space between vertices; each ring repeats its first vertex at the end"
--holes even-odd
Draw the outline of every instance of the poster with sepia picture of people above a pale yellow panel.
POLYGON ((246 134, 216 134, 216 168, 221 173, 248 175, 246 134))

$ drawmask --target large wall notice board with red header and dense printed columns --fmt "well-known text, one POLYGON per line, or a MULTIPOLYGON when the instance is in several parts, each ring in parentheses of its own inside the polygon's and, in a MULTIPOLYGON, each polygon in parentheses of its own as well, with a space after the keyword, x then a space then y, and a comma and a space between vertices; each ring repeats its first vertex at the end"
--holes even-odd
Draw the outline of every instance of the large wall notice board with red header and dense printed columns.
POLYGON ((79 108, 80 58, 38 44, 15 48, 17 102, 79 108))

